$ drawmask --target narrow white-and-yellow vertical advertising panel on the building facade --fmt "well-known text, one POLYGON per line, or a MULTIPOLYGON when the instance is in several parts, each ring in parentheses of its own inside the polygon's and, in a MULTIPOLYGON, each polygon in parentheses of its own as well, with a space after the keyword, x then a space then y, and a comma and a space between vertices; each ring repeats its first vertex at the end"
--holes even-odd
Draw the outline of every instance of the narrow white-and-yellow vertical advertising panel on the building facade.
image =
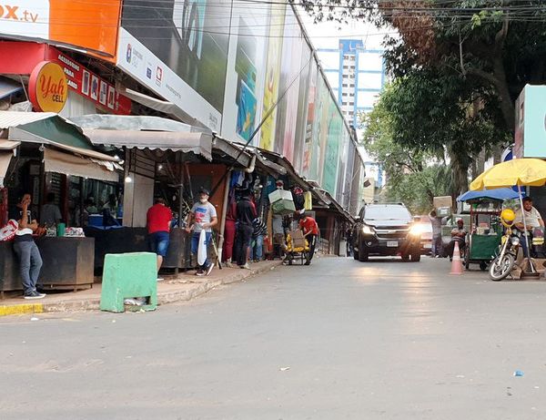
MULTIPOLYGON (((271 5, 271 19, 268 31, 268 56, 266 59, 266 79, 264 87, 264 105, 262 115, 265 117, 273 108, 278 99, 278 83, 280 78, 280 56, 282 51, 282 34, 286 5, 271 5)), ((275 142, 275 128, 277 123, 277 109, 264 121, 260 129, 259 147, 273 150, 275 142)))

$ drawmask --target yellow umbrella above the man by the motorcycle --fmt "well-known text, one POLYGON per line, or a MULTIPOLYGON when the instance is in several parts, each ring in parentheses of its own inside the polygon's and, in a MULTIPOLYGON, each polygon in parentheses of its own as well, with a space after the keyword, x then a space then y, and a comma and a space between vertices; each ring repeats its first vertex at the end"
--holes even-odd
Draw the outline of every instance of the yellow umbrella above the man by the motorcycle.
POLYGON ((499 163, 470 183, 470 190, 512 187, 541 187, 546 183, 546 161, 513 159, 499 163))

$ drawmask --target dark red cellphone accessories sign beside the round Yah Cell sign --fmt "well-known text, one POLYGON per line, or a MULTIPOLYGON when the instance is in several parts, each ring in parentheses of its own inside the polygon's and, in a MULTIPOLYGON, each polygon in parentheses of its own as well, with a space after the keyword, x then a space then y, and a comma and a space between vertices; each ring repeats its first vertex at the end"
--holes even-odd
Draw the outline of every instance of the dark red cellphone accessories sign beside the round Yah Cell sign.
POLYGON ((116 91, 116 87, 95 73, 65 56, 56 48, 49 47, 46 56, 56 61, 65 71, 68 87, 77 94, 95 102, 99 108, 118 115, 131 113, 131 100, 116 91))

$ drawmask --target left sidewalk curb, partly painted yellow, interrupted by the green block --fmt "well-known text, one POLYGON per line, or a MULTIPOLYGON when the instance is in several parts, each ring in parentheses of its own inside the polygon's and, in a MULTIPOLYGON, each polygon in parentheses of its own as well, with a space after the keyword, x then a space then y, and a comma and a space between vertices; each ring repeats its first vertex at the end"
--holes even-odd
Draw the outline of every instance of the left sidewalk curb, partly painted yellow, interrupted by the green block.
MULTIPOLYGON (((232 284, 235 282, 243 282, 251 277, 254 277, 262 272, 273 270, 281 265, 281 261, 271 261, 253 270, 240 270, 233 272, 223 277, 222 279, 214 279, 208 282, 194 283, 195 287, 181 291, 157 292, 157 304, 167 304, 173 302, 191 301, 198 296, 210 292, 223 284, 232 284)), ((98 311, 100 305, 100 297, 91 299, 75 299, 74 301, 66 302, 44 302, 30 304, 0 304, 0 317, 5 315, 23 315, 29 313, 43 312, 83 312, 83 311, 98 311)))

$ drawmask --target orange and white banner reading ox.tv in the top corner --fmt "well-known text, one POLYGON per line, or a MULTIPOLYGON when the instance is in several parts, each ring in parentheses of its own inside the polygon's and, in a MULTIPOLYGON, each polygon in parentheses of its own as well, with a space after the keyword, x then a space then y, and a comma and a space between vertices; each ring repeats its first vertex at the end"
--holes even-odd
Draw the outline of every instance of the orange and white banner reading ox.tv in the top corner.
POLYGON ((6 0, 0 4, 0 35, 52 41, 116 56, 121 0, 6 0))

